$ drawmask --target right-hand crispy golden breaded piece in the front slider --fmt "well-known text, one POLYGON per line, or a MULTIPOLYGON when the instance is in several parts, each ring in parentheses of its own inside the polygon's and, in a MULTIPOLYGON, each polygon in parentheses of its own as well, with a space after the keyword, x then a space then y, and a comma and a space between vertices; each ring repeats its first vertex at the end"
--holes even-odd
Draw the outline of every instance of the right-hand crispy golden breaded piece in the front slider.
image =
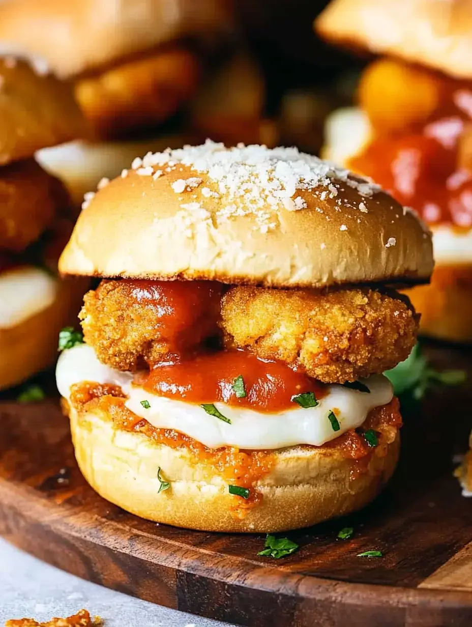
POLYGON ((384 372, 409 355, 419 316, 406 297, 369 288, 233 287, 221 306, 227 347, 301 366, 327 383, 384 372))

